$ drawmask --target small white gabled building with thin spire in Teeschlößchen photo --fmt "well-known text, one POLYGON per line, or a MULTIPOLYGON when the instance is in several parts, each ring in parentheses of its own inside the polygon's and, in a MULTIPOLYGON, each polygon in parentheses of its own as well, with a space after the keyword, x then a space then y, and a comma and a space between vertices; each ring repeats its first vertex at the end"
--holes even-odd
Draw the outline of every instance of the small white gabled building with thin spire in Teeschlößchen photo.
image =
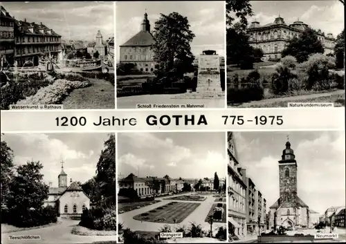
POLYGON ((58 187, 52 187, 49 182, 48 199, 44 206, 51 205, 57 207, 58 214, 62 218, 81 216, 84 209, 90 209, 89 196, 85 194, 82 187, 77 182, 67 185, 67 174, 64 172, 64 162, 62 162, 62 171, 57 176, 58 187))

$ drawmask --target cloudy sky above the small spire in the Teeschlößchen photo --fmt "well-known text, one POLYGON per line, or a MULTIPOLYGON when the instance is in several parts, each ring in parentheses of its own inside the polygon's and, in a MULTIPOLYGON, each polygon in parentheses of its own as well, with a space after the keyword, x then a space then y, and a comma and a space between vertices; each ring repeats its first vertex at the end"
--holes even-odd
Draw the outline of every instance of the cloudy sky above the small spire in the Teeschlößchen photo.
POLYGON ((15 156, 15 165, 25 165, 28 160, 43 165, 44 182, 57 187, 57 176, 64 160, 67 180, 86 182, 95 176, 96 165, 107 133, 31 133, 5 134, 1 140, 7 142, 15 156))

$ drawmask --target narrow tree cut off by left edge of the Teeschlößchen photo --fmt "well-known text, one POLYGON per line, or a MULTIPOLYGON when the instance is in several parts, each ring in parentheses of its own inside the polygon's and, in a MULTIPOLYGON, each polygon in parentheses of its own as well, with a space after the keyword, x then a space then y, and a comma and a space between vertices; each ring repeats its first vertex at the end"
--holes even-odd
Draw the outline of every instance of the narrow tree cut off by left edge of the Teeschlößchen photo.
MULTIPOLYGON (((8 147, 8 144, 1 138, 1 203, 6 205, 6 198, 9 191, 10 182, 14 174, 13 169, 13 151, 8 147)), ((2 205, 1 205, 2 206, 2 205)))

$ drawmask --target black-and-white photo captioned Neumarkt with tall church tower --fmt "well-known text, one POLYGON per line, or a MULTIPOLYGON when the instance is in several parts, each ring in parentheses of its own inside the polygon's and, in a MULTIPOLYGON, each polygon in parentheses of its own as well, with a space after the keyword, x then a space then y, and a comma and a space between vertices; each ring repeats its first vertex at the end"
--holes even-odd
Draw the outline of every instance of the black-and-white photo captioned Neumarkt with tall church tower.
POLYGON ((345 242, 345 131, 227 138, 230 242, 345 242))

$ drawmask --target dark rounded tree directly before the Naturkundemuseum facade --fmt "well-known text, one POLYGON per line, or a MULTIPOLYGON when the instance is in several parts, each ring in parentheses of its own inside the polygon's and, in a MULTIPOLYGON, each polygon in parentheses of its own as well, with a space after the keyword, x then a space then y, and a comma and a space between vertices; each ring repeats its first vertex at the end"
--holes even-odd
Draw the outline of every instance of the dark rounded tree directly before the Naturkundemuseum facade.
POLYGON ((318 40, 315 30, 305 28, 298 38, 293 37, 289 40, 286 48, 282 50, 282 57, 291 55, 297 59, 297 62, 302 63, 307 61, 313 53, 323 53, 324 48, 318 40))

